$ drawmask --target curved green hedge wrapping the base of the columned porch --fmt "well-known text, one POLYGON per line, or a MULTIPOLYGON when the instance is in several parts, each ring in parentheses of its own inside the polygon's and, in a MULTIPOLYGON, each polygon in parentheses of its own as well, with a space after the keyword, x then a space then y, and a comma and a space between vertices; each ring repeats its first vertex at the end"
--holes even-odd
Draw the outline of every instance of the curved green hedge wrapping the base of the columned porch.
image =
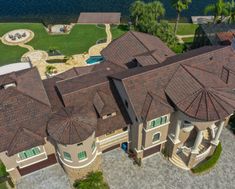
POLYGON ((217 161, 219 160, 221 152, 222 152, 222 146, 221 143, 219 143, 219 145, 215 149, 214 154, 205 161, 203 161, 202 163, 200 163, 199 165, 197 165, 196 167, 192 168, 191 171, 193 173, 202 173, 213 168, 216 165, 217 161))

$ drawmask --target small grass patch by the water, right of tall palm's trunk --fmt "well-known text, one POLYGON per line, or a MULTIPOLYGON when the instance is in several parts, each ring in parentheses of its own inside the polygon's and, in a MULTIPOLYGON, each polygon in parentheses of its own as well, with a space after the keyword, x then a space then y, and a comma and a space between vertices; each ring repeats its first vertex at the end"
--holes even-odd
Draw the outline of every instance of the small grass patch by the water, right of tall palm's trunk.
MULTIPOLYGON (((172 27, 175 26, 175 23, 170 23, 172 27)), ((197 24, 191 23, 179 23, 177 35, 192 35, 195 34, 196 29, 199 26, 197 24)))

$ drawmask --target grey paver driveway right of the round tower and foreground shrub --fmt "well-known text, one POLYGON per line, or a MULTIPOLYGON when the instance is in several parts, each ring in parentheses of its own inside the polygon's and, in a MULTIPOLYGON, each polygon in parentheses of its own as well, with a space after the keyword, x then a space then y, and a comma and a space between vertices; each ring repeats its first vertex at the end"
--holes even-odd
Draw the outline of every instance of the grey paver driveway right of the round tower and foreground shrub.
POLYGON ((119 149, 103 154, 104 176, 111 189, 235 189, 235 137, 224 129, 221 141, 218 164, 201 176, 181 170, 160 154, 138 167, 119 149))

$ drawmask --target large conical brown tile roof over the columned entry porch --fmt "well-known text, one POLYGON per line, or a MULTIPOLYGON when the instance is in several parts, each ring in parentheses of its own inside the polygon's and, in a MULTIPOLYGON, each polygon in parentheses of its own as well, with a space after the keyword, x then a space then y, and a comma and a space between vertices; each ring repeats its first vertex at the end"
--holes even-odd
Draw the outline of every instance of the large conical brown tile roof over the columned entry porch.
POLYGON ((179 110, 199 120, 214 121, 232 114, 235 94, 216 75, 181 65, 166 89, 179 110))

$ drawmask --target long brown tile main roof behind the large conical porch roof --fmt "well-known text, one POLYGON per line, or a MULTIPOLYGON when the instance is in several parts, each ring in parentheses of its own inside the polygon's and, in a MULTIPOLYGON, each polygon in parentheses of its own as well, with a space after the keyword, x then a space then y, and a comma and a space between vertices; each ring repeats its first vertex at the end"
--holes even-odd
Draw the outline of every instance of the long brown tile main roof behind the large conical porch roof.
MULTIPOLYGON (((146 96, 150 92, 160 93, 158 96, 166 99, 166 102, 168 102, 169 105, 172 105, 171 101, 166 97, 164 90, 180 65, 191 65, 195 68, 200 68, 203 71, 208 70, 208 72, 214 74, 216 78, 220 78, 223 66, 230 62, 231 57, 234 57, 234 52, 231 47, 204 47, 186 54, 170 57, 160 64, 145 66, 143 68, 135 68, 113 74, 112 78, 122 81, 134 111, 140 118, 142 111, 145 109, 146 96)), ((194 74, 196 74, 196 72, 194 74)), ((207 85, 209 85, 211 80, 212 77, 210 80, 207 79, 206 76, 202 78, 202 81, 207 85)), ((213 82, 214 80, 211 81, 211 83, 213 82)), ((189 87, 195 89, 193 86, 189 87)), ((183 91, 185 91, 185 89, 183 91)), ((172 93, 172 97, 173 96, 177 96, 177 93, 172 93)), ((230 110, 230 108, 228 109, 230 110)), ((158 115, 159 114, 164 115, 165 112, 161 112, 161 110, 159 110, 158 115)), ((156 114, 155 116, 157 117, 158 115, 156 114)), ((214 118, 216 117, 208 117, 208 119, 214 118)))

